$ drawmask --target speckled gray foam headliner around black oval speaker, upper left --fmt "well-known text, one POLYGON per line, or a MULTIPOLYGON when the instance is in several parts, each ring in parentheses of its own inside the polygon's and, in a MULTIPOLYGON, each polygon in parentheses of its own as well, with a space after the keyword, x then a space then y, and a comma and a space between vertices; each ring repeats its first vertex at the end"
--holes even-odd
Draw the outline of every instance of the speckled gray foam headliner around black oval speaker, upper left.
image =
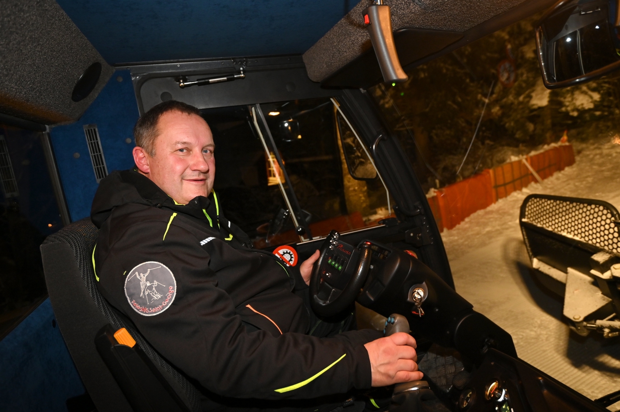
POLYGON ((3 0, 0 31, 0 112, 48 125, 75 121, 114 71, 54 0, 3 0), (97 87, 73 102, 75 83, 95 61, 103 66, 97 87))

